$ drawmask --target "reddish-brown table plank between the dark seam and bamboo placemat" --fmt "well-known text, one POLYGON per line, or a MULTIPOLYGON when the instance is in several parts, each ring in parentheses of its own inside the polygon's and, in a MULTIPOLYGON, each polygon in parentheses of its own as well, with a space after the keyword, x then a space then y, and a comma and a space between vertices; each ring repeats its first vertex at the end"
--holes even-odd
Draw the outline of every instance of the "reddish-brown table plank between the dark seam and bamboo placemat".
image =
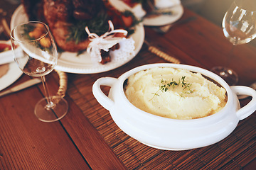
MULTIPOLYGON (((70 76, 72 75, 70 74, 70 76)), ((86 76, 84 75, 84 77, 86 76)), ((58 81, 56 75, 55 81, 58 81)), ((87 84, 87 88, 91 89, 92 87, 87 84)), ((126 169, 80 108, 68 96, 66 99, 70 110, 60 122, 90 167, 92 169, 126 169)))

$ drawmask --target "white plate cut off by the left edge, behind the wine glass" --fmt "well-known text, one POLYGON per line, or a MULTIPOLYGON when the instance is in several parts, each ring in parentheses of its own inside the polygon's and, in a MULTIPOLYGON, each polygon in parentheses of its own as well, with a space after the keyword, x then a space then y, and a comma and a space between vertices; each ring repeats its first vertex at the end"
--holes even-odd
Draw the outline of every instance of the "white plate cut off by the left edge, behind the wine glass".
MULTIPOLYGON (((10 45, 9 41, 0 41, 1 43, 7 43, 10 45)), ((0 52, 1 55, 1 52, 0 52)), ((11 56, 10 56, 11 57, 11 56)), ((21 75, 21 69, 18 68, 16 62, 9 63, 9 70, 4 74, 4 76, 0 77, 0 91, 5 89, 6 87, 13 84, 21 75)))

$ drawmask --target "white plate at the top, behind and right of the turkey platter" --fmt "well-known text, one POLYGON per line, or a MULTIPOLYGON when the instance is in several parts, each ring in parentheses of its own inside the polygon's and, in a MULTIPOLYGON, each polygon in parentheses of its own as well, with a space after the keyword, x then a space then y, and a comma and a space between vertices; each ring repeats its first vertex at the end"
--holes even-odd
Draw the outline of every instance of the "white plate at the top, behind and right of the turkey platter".
POLYGON ((183 15, 183 6, 181 4, 170 8, 174 12, 173 15, 161 15, 154 18, 144 17, 144 26, 164 26, 166 24, 174 23, 183 15))

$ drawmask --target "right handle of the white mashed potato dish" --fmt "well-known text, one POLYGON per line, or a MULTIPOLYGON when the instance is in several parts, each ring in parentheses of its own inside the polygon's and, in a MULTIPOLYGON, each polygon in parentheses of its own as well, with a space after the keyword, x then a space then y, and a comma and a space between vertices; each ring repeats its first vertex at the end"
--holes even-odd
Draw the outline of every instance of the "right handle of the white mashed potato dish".
POLYGON ((247 118, 256 111, 256 91, 247 86, 231 86, 232 91, 237 95, 252 96, 252 100, 244 107, 237 111, 237 116, 240 120, 247 118))

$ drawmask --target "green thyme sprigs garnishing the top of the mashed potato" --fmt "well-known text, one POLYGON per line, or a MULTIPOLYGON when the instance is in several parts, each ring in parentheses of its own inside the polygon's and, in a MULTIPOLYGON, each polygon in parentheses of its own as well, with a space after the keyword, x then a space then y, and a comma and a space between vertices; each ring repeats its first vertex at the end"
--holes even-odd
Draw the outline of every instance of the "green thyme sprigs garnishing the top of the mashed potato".
POLYGON ((166 92, 169 90, 169 87, 172 87, 172 89, 174 89, 176 86, 180 86, 183 87, 182 89, 182 94, 181 97, 183 97, 184 94, 192 94, 193 91, 190 89, 191 87, 191 83, 187 83, 185 80, 186 76, 181 77, 181 79, 178 79, 178 81, 171 79, 171 81, 169 83, 167 83, 166 80, 161 79, 161 85, 159 85, 159 90, 156 91, 156 93, 152 93, 154 94, 154 96, 149 100, 151 101, 155 96, 160 96, 158 94, 159 91, 161 92, 166 92))

